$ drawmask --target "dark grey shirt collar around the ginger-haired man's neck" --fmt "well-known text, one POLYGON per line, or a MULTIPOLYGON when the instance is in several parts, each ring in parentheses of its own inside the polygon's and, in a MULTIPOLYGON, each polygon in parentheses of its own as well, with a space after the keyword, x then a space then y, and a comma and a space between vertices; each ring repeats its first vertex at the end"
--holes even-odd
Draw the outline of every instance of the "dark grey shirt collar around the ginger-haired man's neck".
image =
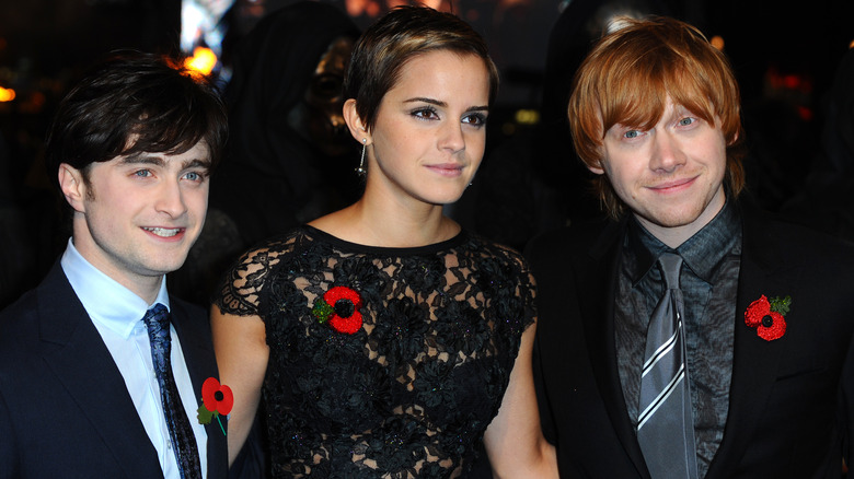
POLYGON ((720 261, 732 250, 741 238, 741 218, 731 201, 703 229, 694 233, 676 249, 670 248, 653 236, 634 215, 628 221, 626 247, 636 261, 630 268, 632 283, 636 284, 665 252, 677 253, 684 265, 700 279, 711 282, 720 261))

